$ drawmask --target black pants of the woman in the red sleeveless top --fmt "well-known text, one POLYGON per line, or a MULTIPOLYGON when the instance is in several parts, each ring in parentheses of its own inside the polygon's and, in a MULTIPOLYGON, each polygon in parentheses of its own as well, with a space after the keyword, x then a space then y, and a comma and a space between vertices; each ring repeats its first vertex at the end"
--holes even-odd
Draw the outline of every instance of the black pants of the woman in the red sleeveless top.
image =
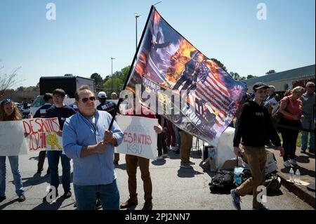
MULTIPOLYGON (((299 128, 301 126, 301 121, 293 121, 293 120, 282 118, 279 121, 279 124, 282 124, 284 126, 299 128)), ((286 162, 288 160, 288 157, 290 159, 295 159, 296 140, 298 137, 298 130, 286 129, 282 127, 282 129, 279 129, 279 131, 281 132, 282 140, 283 140, 283 144, 282 144, 282 147, 284 148, 283 161, 286 162)))

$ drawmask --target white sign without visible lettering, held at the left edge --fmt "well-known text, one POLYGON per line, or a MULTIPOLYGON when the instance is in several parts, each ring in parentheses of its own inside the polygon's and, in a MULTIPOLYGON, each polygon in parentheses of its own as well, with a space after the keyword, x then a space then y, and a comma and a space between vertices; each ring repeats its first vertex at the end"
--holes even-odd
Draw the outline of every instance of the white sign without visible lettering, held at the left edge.
POLYGON ((0 122, 0 156, 27 154, 22 121, 0 122))

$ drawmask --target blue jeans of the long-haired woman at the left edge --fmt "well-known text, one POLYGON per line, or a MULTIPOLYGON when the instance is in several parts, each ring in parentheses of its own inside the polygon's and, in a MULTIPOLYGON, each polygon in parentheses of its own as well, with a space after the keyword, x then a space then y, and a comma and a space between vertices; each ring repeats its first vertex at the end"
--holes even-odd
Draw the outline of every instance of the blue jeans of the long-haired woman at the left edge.
MULTIPOLYGON (((22 178, 19 171, 19 157, 10 156, 8 157, 11 171, 13 174, 13 180, 15 185, 15 193, 22 195, 24 193, 22 178)), ((6 157, 0 157, 0 196, 6 195, 6 157)))

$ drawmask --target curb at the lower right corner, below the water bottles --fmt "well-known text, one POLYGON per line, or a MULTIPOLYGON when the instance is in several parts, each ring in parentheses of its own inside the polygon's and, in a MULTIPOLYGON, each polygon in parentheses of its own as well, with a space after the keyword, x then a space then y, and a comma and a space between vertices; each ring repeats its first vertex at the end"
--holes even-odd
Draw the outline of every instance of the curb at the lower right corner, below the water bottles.
POLYGON ((277 175, 281 178, 281 184, 284 185, 287 190, 294 193, 294 195, 302 199, 303 202, 308 203, 315 209, 315 196, 309 194, 309 190, 303 190, 300 186, 287 181, 287 179, 284 178, 283 173, 277 172, 277 175))

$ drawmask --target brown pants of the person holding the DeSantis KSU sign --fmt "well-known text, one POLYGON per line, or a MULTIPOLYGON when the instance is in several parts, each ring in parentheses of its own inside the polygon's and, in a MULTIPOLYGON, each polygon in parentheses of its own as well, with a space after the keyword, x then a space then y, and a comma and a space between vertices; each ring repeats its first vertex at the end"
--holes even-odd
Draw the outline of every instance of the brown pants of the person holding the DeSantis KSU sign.
POLYGON ((149 159, 137 157, 131 154, 126 154, 126 171, 129 176, 129 197, 133 202, 138 202, 137 199, 137 180, 136 171, 139 164, 143 187, 145 193, 145 202, 152 202, 152 180, 150 179, 149 159))

